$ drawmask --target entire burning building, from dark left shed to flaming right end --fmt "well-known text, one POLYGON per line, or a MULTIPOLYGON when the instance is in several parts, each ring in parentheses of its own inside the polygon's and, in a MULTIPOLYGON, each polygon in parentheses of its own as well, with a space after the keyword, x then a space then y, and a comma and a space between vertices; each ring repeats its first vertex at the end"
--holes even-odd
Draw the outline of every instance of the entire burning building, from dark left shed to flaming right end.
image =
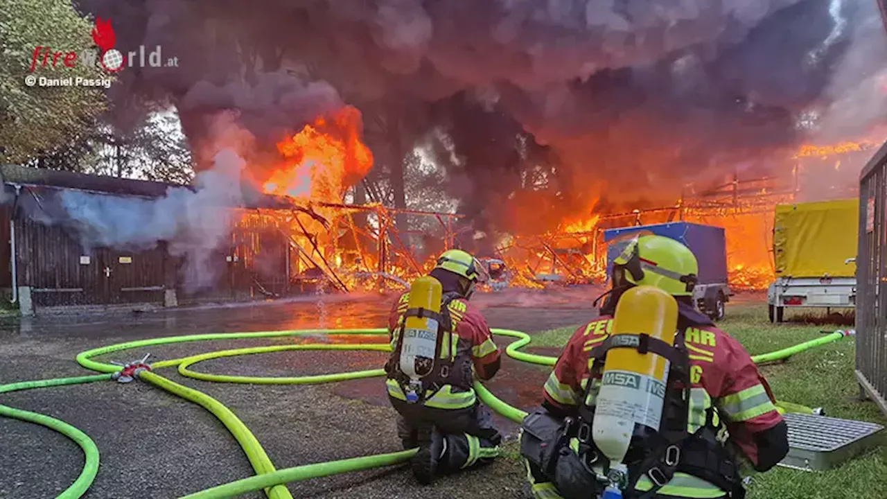
MULTIPOLYGON (((417 247, 417 234, 401 230, 397 215, 436 220, 436 231, 422 235, 436 234, 443 248, 483 240, 459 229, 462 215, 346 203, 373 161, 352 113, 334 116, 327 131, 327 118, 306 125, 280 141, 279 157, 262 168, 248 169, 232 151, 217 154, 194 186, 3 167, 0 212, 9 220, 2 226, 11 256, 3 285, 24 313, 403 289, 436 255, 417 247)), ((687 186, 671 206, 615 212, 591 202, 562 212, 556 230, 507 234, 480 255, 504 263, 512 286, 598 282, 604 229, 685 220, 724 227, 731 286, 762 289, 773 280, 773 206, 809 195, 852 197, 852 183, 840 188, 837 178, 871 148, 803 147, 781 176, 734 172, 722 185, 687 186), (822 186, 829 192, 816 190, 822 186)))

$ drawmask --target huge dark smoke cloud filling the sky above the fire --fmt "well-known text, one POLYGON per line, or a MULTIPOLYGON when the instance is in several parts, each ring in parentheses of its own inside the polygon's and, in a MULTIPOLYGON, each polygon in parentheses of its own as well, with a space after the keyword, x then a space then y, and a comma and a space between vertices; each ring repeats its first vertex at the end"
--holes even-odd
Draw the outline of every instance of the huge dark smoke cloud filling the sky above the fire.
MULTIPOLYGON (((119 45, 179 58, 127 69, 122 88, 176 104, 195 148, 212 140, 205 117, 232 107, 260 144, 341 102, 409 116, 404 136, 446 132, 449 190, 479 226, 538 202, 514 195, 528 162, 569 207, 673 201, 686 182, 772 169, 805 140, 884 119, 875 0, 81 4, 119 45)), ((528 223, 553 218, 541 211, 528 223)))

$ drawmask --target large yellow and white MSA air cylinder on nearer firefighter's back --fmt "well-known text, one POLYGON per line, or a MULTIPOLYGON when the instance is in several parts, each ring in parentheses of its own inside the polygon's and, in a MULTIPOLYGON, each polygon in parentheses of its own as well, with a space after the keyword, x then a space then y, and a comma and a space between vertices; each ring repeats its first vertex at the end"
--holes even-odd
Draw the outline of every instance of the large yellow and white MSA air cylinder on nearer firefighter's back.
MULTIPOLYGON (((647 334, 674 345, 678 328, 678 303, 653 286, 624 292, 616 304, 611 335, 647 334)), ((630 343, 627 342, 626 343, 630 343)), ((592 436, 611 463, 622 463, 632 441, 635 424, 659 430, 668 379, 669 361, 653 352, 613 348, 607 352, 601 374, 592 436)))

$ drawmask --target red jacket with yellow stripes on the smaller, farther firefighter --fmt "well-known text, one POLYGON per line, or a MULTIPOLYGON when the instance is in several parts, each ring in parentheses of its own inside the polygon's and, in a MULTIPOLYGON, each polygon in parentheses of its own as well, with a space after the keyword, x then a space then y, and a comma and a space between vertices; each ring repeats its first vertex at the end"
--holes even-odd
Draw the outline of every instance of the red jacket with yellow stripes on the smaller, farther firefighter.
MULTIPOLYGON (((395 303, 389 315, 389 340, 392 349, 396 349, 397 337, 404 322, 404 314, 410 301, 410 294, 404 293, 395 303)), ((488 372, 488 366, 496 363, 501 354, 493 342, 490 328, 483 315, 474 305, 464 298, 454 298, 446 305, 445 311, 451 319, 451 331, 439 331, 443 341, 440 348, 442 363, 451 365, 448 374, 436 374, 435 390, 428 391, 424 404, 430 408, 459 409, 475 405, 476 395, 472 388, 474 373, 482 378, 488 372)), ((398 352, 394 352, 392 360, 396 361, 398 352)), ((403 388, 396 379, 389 376, 386 382, 389 396, 406 400, 403 388)))

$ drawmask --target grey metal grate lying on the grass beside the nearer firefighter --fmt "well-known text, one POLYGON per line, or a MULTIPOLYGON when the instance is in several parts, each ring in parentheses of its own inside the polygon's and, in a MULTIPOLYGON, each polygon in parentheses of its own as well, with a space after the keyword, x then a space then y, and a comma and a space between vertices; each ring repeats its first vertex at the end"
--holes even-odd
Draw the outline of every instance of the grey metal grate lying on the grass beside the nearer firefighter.
POLYGON ((781 466, 828 470, 883 444, 880 424, 810 414, 789 413, 783 417, 789 425, 789 455, 781 466))

